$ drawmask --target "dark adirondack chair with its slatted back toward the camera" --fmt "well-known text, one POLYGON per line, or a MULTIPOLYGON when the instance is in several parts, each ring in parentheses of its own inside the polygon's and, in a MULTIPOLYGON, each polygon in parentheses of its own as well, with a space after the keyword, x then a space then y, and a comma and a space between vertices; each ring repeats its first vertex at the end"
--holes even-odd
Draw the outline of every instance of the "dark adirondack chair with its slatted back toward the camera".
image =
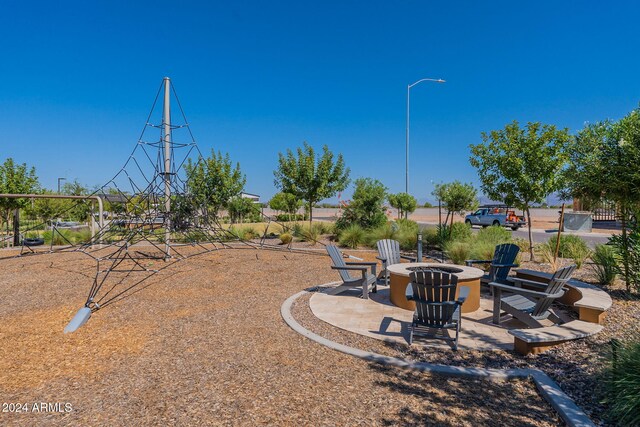
POLYGON ((409 332, 409 345, 413 344, 414 335, 429 338, 440 338, 453 342, 453 349, 458 349, 460 335, 460 306, 469 295, 469 288, 462 286, 456 299, 458 276, 436 269, 420 269, 409 274, 411 283, 407 286, 406 297, 416 303, 413 322, 409 332), (445 330, 454 329, 455 337, 445 334, 445 330), (442 336, 437 336, 441 331, 442 336))

